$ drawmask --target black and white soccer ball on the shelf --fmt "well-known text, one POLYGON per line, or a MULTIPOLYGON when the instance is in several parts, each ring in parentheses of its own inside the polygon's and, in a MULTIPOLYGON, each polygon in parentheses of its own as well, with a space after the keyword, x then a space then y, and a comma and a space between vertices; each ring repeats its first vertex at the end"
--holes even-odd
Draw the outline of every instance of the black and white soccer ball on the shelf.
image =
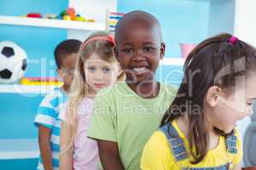
POLYGON ((0 42, 0 83, 17 82, 26 71, 26 52, 15 42, 0 42))

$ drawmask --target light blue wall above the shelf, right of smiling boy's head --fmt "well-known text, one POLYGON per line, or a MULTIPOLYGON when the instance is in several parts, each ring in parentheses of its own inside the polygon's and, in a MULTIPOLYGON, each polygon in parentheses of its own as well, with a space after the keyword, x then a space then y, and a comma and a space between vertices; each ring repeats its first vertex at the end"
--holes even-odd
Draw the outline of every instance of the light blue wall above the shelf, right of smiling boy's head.
POLYGON ((209 1, 118 0, 118 11, 145 10, 160 20, 166 57, 180 57, 180 42, 201 42, 208 36, 209 1))

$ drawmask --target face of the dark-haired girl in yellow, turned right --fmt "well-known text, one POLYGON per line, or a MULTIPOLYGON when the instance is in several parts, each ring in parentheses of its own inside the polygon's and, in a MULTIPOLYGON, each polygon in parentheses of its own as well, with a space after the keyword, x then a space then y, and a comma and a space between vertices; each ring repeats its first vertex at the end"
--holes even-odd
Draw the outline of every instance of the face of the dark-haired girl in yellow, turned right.
POLYGON ((208 116, 212 127, 230 133, 236 122, 253 114, 253 101, 256 99, 256 75, 248 75, 245 81, 240 81, 229 95, 220 94, 217 103, 208 116))

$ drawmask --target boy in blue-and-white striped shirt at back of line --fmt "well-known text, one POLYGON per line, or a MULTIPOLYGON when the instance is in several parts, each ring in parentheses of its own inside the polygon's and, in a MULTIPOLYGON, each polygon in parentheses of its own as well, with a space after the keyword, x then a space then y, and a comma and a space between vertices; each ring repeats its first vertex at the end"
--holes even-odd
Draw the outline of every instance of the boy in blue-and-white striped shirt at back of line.
POLYGON ((64 83, 61 88, 55 88, 44 97, 35 117, 40 149, 38 170, 59 169, 61 120, 58 117, 63 104, 67 101, 80 46, 79 40, 69 39, 59 43, 55 48, 56 70, 64 83))

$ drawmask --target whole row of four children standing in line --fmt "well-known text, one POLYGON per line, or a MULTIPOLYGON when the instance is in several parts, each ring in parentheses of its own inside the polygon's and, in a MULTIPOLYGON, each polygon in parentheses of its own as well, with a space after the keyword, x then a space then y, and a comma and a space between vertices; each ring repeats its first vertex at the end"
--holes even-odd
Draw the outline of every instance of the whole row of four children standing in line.
POLYGON ((155 80, 164 54, 160 23, 143 11, 125 14, 114 40, 96 32, 61 42, 64 86, 35 119, 38 169, 239 169, 235 126, 256 98, 256 50, 229 34, 208 38, 186 59, 178 90, 155 80))

